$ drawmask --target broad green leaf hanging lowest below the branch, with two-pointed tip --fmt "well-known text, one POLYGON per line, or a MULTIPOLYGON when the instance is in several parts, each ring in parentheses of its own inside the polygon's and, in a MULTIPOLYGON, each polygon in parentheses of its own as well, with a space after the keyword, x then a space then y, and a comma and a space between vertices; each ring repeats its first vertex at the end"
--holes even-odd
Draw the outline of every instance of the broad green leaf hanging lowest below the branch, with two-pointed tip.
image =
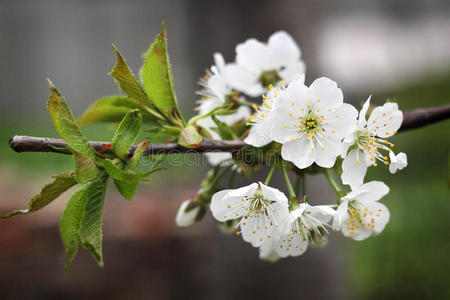
POLYGON ((106 179, 83 184, 70 198, 61 217, 59 232, 66 250, 66 271, 82 245, 97 263, 102 260, 102 214, 106 179))

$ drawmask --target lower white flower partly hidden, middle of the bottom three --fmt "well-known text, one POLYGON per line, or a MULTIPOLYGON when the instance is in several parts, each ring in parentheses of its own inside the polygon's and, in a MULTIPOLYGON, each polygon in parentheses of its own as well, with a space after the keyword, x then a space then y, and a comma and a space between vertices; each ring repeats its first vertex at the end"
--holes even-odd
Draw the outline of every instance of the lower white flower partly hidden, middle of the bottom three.
POLYGON ((299 256, 310 243, 325 243, 325 233, 328 233, 325 226, 328 226, 335 213, 330 206, 300 204, 299 208, 291 211, 289 220, 280 230, 275 242, 278 255, 299 256))

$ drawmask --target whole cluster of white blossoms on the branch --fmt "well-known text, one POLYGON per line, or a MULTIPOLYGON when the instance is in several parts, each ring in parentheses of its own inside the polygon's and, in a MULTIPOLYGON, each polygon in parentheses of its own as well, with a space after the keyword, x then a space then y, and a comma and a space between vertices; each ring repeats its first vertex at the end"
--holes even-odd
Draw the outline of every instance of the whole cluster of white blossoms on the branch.
MULTIPOLYGON (((396 173, 407 165, 406 154, 395 154, 388 141, 403 120, 397 104, 372 108, 369 97, 358 112, 344 103, 333 80, 322 77, 306 85, 300 48, 284 31, 272 34, 267 43, 249 39, 238 44, 233 63, 219 53, 214 61, 200 80, 198 112, 207 117, 197 125, 211 138, 221 139, 217 121, 208 114, 231 103, 232 111, 214 118, 229 126, 245 120, 248 130, 236 139, 253 147, 278 144, 283 172, 287 163, 300 172, 315 164, 325 173, 335 170, 347 189, 332 182, 337 203, 311 205, 298 200, 287 176, 289 197, 269 187, 270 173, 265 183, 216 192, 210 199, 214 218, 231 222, 237 235, 271 261, 301 255, 309 245, 324 245, 330 229, 358 241, 379 234, 389 221, 389 211, 379 200, 389 188, 380 181, 365 183, 364 178, 370 166, 386 165, 396 173), (251 105, 251 112, 247 98, 259 96, 262 103, 251 105)), ((208 155, 214 165, 232 161, 229 153, 208 155)), ((331 175, 327 178, 333 181, 331 175)), ((178 224, 193 223, 183 220, 195 217, 195 211, 184 213, 186 205, 177 215, 178 224)))

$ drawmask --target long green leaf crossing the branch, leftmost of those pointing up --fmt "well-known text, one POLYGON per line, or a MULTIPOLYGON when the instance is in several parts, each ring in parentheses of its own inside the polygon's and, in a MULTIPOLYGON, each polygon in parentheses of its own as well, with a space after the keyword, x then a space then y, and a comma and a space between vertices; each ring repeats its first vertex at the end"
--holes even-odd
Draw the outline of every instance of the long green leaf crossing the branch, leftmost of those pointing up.
POLYGON ((95 165, 95 150, 81 132, 64 97, 49 80, 50 99, 47 108, 59 135, 75 154, 75 178, 83 183, 96 176, 100 170, 95 165))

